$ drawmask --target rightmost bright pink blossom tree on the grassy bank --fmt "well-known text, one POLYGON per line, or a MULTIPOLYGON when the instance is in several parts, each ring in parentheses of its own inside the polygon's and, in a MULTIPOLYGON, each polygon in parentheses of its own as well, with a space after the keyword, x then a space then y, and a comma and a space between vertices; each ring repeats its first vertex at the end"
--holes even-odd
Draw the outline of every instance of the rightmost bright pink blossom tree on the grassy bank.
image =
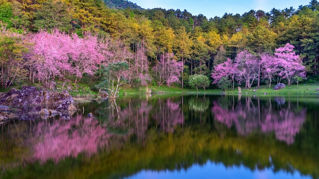
POLYGON ((284 47, 275 49, 275 56, 281 63, 279 76, 282 79, 287 79, 288 85, 291 85, 295 76, 306 77, 305 67, 302 65, 299 55, 296 55, 295 51, 293 51, 294 48, 293 45, 287 43, 284 47))

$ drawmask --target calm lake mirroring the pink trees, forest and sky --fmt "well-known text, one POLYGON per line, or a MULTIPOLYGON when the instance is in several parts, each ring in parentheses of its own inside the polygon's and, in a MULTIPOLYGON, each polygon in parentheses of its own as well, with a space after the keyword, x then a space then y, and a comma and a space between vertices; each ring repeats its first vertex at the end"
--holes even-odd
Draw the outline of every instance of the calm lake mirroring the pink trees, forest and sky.
POLYGON ((70 118, 0 125, 0 178, 319 178, 319 96, 76 105, 70 118))

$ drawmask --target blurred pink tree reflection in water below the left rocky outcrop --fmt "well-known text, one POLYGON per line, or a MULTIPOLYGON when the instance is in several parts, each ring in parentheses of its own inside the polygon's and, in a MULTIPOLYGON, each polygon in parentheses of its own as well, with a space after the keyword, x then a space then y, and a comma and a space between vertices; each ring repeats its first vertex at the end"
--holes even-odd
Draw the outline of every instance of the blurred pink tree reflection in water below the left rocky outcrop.
POLYGON ((42 136, 42 141, 34 145, 34 158, 42 163, 49 159, 59 162, 80 153, 90 156, 105 145, 110 136, 94 117, 82 114, 75 115, 70 121, 40 123, 36 135, 42 136))

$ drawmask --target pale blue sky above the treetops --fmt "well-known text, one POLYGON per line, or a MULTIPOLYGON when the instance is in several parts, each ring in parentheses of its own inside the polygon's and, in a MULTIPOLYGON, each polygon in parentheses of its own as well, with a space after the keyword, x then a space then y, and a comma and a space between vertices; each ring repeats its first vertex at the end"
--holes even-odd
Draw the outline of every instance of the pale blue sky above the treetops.
POLYGON ((226 12, 242 15, 250 10, 270 12, 273 8, 285 9, 291 6, 309 5, 311 0, 128 0, 144 9, 186 9, 193 15, 203 14, 210 17, 222 17, 226 12))

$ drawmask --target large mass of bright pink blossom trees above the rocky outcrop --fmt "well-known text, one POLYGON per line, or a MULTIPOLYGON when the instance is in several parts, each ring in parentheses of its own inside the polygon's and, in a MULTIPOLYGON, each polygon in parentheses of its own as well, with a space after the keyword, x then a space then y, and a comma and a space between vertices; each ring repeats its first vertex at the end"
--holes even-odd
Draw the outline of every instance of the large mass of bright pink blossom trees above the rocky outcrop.
POLYGON ((33 53, 37 58, 37 78, 48 82, 65 73, 75 75, 75 83, 85 73, 93 75, 101 62, 107 61, 111 52, 108 44, 98 42, 97 37, 87 35, 84 38, 76 34, 69 36, 55 29, 52 34, 41 31, 32 36, 35 44, 33 53))

